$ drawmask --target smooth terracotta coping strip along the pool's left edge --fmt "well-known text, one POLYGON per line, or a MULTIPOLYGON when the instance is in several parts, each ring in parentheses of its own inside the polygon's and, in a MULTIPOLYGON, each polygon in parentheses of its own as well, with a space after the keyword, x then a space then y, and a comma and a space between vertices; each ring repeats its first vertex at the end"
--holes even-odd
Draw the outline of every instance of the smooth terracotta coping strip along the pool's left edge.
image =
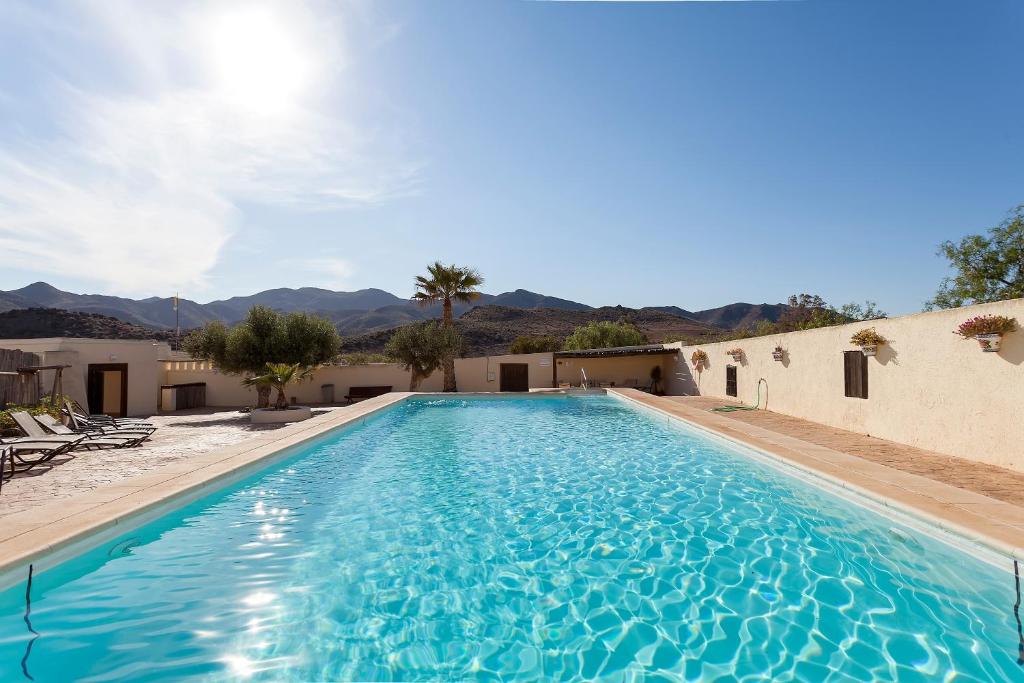
MULTIPOLYGON (((81 496, 7 515, 0 520, 16 527, 0 540, 0 590, 25 579, 30 565, 49 568, 78 554, 103 533, 130 527, 159 516, 172 506, 186 504, 283 459, 289 452, 332 431, 396 405, 411 392, 392 392, 333 411, 303 422, 290 423, 241 443, 172 463, 81 496), (29 519, 31 518, 31 519, 29 519)), ((110 452, 116 457, 116 451, 110 452)))

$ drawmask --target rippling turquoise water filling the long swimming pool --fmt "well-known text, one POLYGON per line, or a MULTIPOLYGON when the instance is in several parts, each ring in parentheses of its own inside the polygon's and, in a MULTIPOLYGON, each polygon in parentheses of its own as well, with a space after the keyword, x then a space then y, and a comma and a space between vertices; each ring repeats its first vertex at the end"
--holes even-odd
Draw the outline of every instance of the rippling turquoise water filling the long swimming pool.
POLYGON ((0 593, 0 680, 1024 680, 1012 564, 611 397, 412 400, 0 593))

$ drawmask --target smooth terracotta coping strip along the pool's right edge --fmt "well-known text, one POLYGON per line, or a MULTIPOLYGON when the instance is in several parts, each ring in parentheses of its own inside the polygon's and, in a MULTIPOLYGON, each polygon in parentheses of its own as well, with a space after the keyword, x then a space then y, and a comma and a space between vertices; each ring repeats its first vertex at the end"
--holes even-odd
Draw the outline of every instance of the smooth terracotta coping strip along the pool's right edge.
MULTIPOLYGON (((954 537, 959 537, 967 542, 982 546, 998 555, 1024 561, 1024 545, 1005 541, 989 530, 994 527, 999 529, 996 532, 1016 536, 1016 538, 1022 540, 1021 543, 1024 543, 1024 526, 1005 523, 998 518, 998 513, 992 513, 990 511, 979 513, 977 510, 971 511, 969 506, 975 505, 974 503, 949 503, 947 501, 929 496, 927 490, 923 493, 918 490, 901 489, 901 492, 896 493, 896 496, 904 499, 900 500, 900 498, 894 497, 886 490, 883 490, 885 488, 901 488, 898 484, 894 484, 891 481, 872 480, 866 476, 851 472, 848 469, 831 465, 821 459, 821 454, 824 452, 831 452, 844 455, 850 459, 862 462, 865 469, 885 468, 885 470, 892 472, 893 480, 906 480, 908 477, 925 480, 929 482, 927 489, 948 490, 950 493, 963 490, 956 488, 955 486, 935 481, 933 479, 928 479, 927 477, 922 477, 920 475, 909 474, 878 463, 871 463, 851 454, 843 454, 842 452, 834 451, 825 446, 801 441, 801 439, 793 436, 783 434, 777 435, 779 440, 786 442, 785 446, 781 446, 777 443, 769 443, 763 438, 760 438, 758 435, 751 433, 753 431, 763 430, 763 428, 749 425, 748 423, 740 422, 738 420, 729 420, 728 418, 723 418, 710 413, 703 415, 705 412, 697 409, 683 407, 674 401, 669 401, 636 389, 609 388, 607 391, 608 393, 614 394, 623 399, 662 413, 668 418, 679 420, 680 422, 686 423, 690 426, 711 432, 720 438, 737 442, 749 449, 753 449, 754 451, 757 451, 758 453, 767 456, 785 465, 786 467, 792 467, 800 472, 810 475, 811 477, 824 480, 834 486, 850 490, 858 496, 868 499, 877 505, 896 510, 908 517, 918 519, 925 524, 930 524, 954 537), (717 424, 718 420, 728 420, 728 422, 725 424, 717 424), (726 429, 722 429, 722 427, 726 427, 726 429), (806 444, 806 451, 803 454, 799 453, 800 443, 806 444), (794 458, 793 454, 786 453, 786 451, 796 451, 803 457, 794 458), (926 505, 930 509, 925 509, 923 505, 919 504, 920 501, 919 503, 915 503, 911 500, 907 500, 921 498, 928 499, 929 502, 926 505), (972 517, 977 517, 979 519, 972 522, 972 517), (969 521, 965 523, 963 521, 964 519, 968 519, 969 521)), ((984 501, 986 507, 991 506, 991 508, 996 510, 1020 510, 1018 506, 1010 503, 983 497, 980 494, 977 496, 979 498, 986 499, 984 501)))

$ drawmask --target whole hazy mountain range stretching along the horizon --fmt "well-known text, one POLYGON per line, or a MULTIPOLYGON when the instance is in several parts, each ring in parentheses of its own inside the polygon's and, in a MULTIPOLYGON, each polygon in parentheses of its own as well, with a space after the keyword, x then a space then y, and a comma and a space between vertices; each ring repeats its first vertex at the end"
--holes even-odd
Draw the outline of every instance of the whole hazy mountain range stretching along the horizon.
MULTIPOLYGON (((439 306, 419 304, 379 289, 355 292, 303 287, 273 289, 249 296, 198 303, 178 300, 182 331, 201 327, 209 321, 228 324, 242 319, 253 305, 262 304, 282 311, 309 311, 332 321, 346 338, 346 348, 378 350, 391 331, 402 325, 438 317, 439 306)), ((472 304, 456 304, 455 313, 470 349, 498 352, 518 334, 558 335, 571 333, 577 325, 590 321, 633 322, 652 341, 680 336, 710 336, 724 330, 752 327, 760 319, 777 321, 784 304, 733 303, 718 308, 691 311, 678 306, 593 307, 577 301, 515 290, 502 294, 481 294, 472 304)), ((144 330, 155 337, 173 334, 175 311, 170 297, 128 299, 102 294, 75 294, 46 283, 34 283, 22 289, 0 291, 0 339, 20 336, 67 336, 78 331, 81 336, 119 336, 137 338, 144 330), (31 312, 50 309, 49 313, 31 312), (54 310, 56 309, 56 310, 54 310), (16 313, 15 311, 20 311, 16 313), (77 316, 60 315, 71 311, 77 316), (86 316, 83 316, 86 315, 86 316), (93 317, 88 317, 92 315, 93 317), (118 326, 109 318, 126 324, 118 326), (33 331, 38 328, 38 331, 33 331), (88 330, 94 329, 93 334, 88 330), (62 335, 60 331, 66 331, 62 335), (142 331, 142 332, 140 332, 142 331)))

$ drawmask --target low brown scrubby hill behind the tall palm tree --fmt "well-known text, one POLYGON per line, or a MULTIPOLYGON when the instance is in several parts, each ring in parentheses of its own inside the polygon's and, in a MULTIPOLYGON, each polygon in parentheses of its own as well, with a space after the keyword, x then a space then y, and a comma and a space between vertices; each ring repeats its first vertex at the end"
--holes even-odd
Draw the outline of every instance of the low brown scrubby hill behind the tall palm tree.
MULTIPOLYGON (((482 355, 508 353, 512 341, 520 335, 567 337, 578 326, 592 321, 631 323, 652 342, 722 332, 714 326, 655 308, 623 306, 604 306, 588 310, 477 306, 460 316, 456 321, 456 326, 466 339, 467 353, 482 355)), ((394 334, 393 328, 348 337, 344 342, 344 350, 379 352, 383 350, 392 334, 394 334)))

